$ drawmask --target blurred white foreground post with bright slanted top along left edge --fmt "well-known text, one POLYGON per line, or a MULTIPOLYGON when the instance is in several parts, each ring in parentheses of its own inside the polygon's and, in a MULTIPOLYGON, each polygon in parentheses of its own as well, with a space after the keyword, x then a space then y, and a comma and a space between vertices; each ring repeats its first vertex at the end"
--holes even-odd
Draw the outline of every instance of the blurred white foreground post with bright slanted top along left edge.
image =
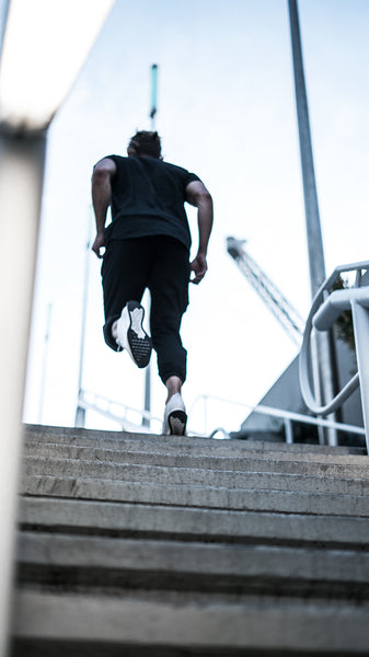
POLYGON ((46 135, 113 3, 11 0, 1 31, 0 657, 7 654, 9 639, 23 393, 46 135))

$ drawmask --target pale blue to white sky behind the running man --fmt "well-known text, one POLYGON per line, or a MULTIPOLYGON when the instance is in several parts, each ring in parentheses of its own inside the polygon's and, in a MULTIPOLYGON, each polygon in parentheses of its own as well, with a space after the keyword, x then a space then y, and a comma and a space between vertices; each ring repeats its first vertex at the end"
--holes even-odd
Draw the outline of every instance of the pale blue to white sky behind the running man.
MULTIPOLYGON (((300 0, 299 9, 328 274, 369 255, 369 2, 300 0)), ((296 354, 226 250, 229 234, 247 239, 251 255, 307 315, 287 0, 117 0, 49 130, 26 422, 73 423, 91 169, 105 154, 124 154, 136 128, 150 127, 153 62, 165 158, 204 180, 216 210, 209 272, 192 287, 183 322, 187 406, 203 393, 256 403, 296 354)), ((196 247, 196 218, 189 216, 196 247)), ((93 254, 90 265, 83 385, 140 407, 142 373, 103 343, 100 262, 93 254)), ((161 416, 165 390, 155 364, 152 372, 152 410, 161 416)), ((219 404, 211 413, 210 424, 228 429, 237 429, 245 415, 219 404)), ((97 419, 89 422, 95 426, 97 419)), ((199 425, 194 412, 193 428, 199 425)))

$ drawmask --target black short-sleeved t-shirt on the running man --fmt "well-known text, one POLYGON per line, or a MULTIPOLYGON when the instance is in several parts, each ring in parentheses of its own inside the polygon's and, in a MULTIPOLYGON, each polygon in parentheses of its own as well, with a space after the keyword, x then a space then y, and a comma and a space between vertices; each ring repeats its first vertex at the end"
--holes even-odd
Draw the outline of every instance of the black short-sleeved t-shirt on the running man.
POLYGON ((105 229, 105 243, 111 239, 164 234, 189 249, 185 189, 199 177, 155 158, 107 157, 115 162, 116 173, 112 178, 112 223, 105 229))

